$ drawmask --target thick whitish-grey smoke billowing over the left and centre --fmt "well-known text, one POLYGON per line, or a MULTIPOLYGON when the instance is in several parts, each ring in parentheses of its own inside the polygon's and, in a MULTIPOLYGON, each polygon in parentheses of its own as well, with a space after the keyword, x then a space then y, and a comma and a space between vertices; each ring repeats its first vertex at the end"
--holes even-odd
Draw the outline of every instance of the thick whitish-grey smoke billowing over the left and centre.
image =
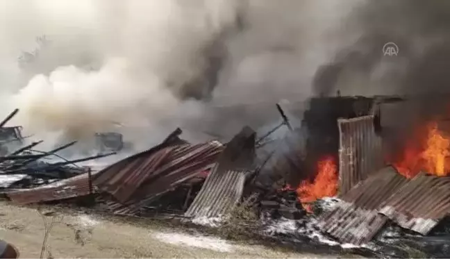
POLYGON ((343 22, 363 3, 57 2, 0 0, 4 113, 20 108, 16 123, 37 136, 119 131, 146 146, 176 126, 220 122, 228 134, 280 99, 310 97, 317 67, 359 36, 343 22), (258 102, 269 105, 215 108, 258 102))

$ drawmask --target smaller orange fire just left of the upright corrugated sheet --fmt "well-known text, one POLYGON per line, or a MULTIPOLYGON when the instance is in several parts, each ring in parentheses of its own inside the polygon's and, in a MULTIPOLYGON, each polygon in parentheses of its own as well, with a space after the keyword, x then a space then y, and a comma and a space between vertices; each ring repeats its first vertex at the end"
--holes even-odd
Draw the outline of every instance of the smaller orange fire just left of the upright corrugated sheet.
POLYGON ((323 197, 333 197, 338 192, 338 166, 333 156, 326 156, 317 163, 317 176, 313 182, 303 181, 297 188, 303 207, 311 212, 308 203, 323 197))

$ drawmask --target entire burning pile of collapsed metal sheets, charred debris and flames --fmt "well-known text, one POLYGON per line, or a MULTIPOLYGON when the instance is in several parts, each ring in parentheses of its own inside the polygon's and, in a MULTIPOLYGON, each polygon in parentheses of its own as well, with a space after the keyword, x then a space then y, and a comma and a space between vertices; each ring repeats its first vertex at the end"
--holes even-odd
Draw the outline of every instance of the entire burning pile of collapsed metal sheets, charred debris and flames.
MULTIPOLYGON (((1 157, 3 175, 60 181, 38 187, 28 183, 24 190, 17 190, 24 183, 15 183, 10 185, 15 190, 5 195, 17 204, 89 199, 94 208, 116 215, 191 222, 234 217, 233 208, 245 201, 249 206, 245 210, 254 211, 261 222, 272 226, 294 222, 294 239, 303 235, 303 241, 308 237, 372 247, 384 242, 392 247, 394 241, 385 238, 392 226, 403 233, 396 242, 406 237, 417 240, 439 232, 450 214, 450 137, 438 122, 419 128, 417 137, 406 142, 397 156, 385 150, 382 106, 399 101, 403 99, 313 99, 301 128, 294 128, 277 106, 281 124, 272 131, 257 138, 256 131, 246 126, 226 143, 191 144, 181 139, 177 128, 156 147, 98 172, 67 165, 105 155, 35 162, 72 144, 35 154, 36 142, 1 157), (273 144, 267 144, 267 136, 282 126, 290 136, 306 133, 304 147, 281 155, 277 150, 261 152, 273 144), (265 154, 263 159, 260 153, 265 154), (276 162, 271 165, 270 159, 276 162), (331 202, 327 197, 335 199, 331 202)), ((274 235, 280 229, 260 231, 274 235)))

